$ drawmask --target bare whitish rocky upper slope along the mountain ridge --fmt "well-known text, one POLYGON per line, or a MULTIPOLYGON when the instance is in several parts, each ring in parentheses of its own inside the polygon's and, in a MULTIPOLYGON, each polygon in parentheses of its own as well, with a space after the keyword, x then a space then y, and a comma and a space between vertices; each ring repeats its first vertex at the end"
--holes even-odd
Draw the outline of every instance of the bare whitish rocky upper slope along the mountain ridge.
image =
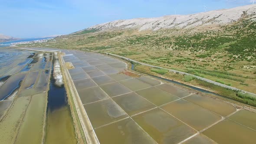
POLYGON ((189 15, 167 15, 155 18, 115 20, 112 22, 91 26, 88 29, 98 29, 102 31, 107 29, 138 28, 139 31, 146 29, 151 29, 154 31, 161 28, 191 28, 212 24, 225 25, 235 22, 243 16, 256 17, 256 4, 189 15))

